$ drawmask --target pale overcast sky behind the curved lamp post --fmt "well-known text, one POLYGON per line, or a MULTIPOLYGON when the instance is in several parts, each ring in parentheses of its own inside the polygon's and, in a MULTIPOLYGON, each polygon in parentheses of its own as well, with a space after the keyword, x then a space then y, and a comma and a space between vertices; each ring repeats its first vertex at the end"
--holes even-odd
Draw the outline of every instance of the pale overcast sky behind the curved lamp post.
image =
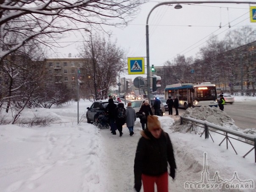
MULTIPOLYGON (((112 31, 111 39, 127 53, 127 57, 146 57, 146 19, 150 10, 160 2, 148 1, 141 6, 137 17, 125 28, 106 28, 112 31)), ((223 39, 226 32, 242 26, 256 28, 256 22, 250 22, 250 6, 248 4, 181 4, 181 9, 164 5, 153 10, 149 18, 149 52, 150 66, 163 66, 165 61, 172 61, 178 54, 196 57, 199 48, 206 45, 210 36, 223 39), (230 27, 229 27, 230 25, 230 27), (220 28, 221 26, 221 28, 220 28)), ((96 32, 97 33, 97 32, 96 32)), ((93 31, 92 31, 93 34, 93 31)), ((78 54, 78 47, 83 38, 79 33, 62 41, 72 44, 58 49, 64 57, 68 53, 78 54)), ((89 33, 88 39, 89 40, 89 33)), ((67 45, 61 43, 60 45, 67 45)), ((56 54, 51 55, 56 57, 56 54)), ((146 64, 146 62, 145 62, 146 64)), ((129 75, 130 78, 133 75, 129 75)), ((138 76, 138 75, 136 75, 138 76)), ((143 76, 143 75, 142 75, 143 76)), ((129 78, 129 77, 128 77, 129 78)))

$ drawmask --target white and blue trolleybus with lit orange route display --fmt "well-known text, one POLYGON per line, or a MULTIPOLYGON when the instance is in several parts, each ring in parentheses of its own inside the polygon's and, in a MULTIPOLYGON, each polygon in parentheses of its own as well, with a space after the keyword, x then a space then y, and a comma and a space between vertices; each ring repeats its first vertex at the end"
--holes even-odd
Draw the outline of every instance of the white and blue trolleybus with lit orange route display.
POLYGON ((197 106, 218 106, 215 84, 204 82, 201 84, 177 83, 167 85, 164 89, 165 98, 169 96, 179 100, 179 107, 187 109, 197 106))

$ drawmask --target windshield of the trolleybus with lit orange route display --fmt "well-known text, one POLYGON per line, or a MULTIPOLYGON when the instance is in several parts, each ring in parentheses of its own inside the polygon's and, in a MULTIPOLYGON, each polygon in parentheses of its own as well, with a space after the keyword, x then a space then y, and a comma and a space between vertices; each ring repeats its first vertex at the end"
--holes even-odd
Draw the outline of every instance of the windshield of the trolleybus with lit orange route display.
POLYGON ((217 93, 214 86, 195 87, 195 100, 216 100, 217 93))

